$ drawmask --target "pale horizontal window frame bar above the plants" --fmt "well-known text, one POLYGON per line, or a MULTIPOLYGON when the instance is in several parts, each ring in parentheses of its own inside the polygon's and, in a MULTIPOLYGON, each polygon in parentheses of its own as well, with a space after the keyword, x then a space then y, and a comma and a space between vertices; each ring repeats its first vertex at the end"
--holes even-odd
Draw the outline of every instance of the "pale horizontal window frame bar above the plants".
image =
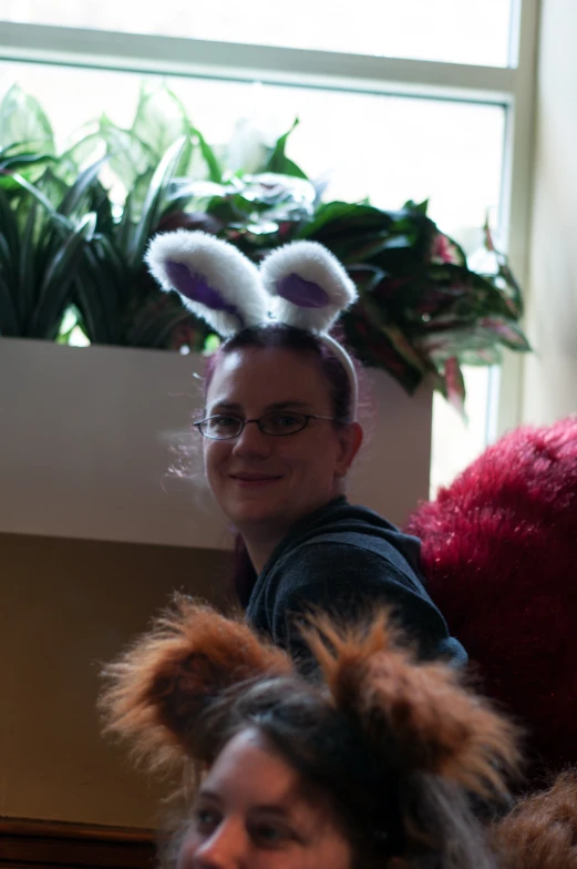
POLYGON ((515 70, 0 22, 0 59, 506 103, 515 70))

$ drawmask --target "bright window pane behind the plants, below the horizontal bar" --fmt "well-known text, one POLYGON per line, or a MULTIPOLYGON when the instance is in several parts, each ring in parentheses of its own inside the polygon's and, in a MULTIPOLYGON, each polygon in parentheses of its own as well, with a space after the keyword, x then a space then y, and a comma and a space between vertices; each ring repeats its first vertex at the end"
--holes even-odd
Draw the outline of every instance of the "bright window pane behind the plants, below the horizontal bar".
MULTIPOLYGON (((104 111, 130 126, 143 79, 33 63, 0 67, 0 93, 14 81, 37 96, 64 147, 73 130, 104 111)), ((165 83, 210 144, 234 141, 245 160, 298 116, 288 155, 310 177, 327 178, 326 200, 369 197, 399 208, 408 198, 429 198, 430 216, 467 253, 481 244, 487 212, 496 214, 505 131, 499 105, 177 76, 165 83)), ((433 491, 486 443, 490 371, 468 369, 465 379, 467 426, 444 399, 434 399, 433 491)))

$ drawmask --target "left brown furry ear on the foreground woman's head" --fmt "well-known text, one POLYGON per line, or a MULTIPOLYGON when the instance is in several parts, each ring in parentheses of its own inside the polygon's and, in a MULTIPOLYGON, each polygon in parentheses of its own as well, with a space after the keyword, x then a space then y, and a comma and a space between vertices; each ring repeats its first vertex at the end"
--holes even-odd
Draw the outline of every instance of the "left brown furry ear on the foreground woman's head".
POLYGON ((288 656, 245 624, 176 595, 172 610, 105 668, 105 728, 130 740, 151 769, 209 760, 212 746, 195 742, 195 722, 210 703, 258 676, 290 672, 288 656))

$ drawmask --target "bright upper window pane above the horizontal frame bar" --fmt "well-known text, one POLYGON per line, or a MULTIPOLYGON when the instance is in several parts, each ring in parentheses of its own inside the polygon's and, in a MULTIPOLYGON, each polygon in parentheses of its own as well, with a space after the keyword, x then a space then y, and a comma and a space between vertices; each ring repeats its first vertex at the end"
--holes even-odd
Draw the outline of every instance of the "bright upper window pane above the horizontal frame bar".
POLYGON ((506 67, 511 0, 3 0, 8 21, 506 67))

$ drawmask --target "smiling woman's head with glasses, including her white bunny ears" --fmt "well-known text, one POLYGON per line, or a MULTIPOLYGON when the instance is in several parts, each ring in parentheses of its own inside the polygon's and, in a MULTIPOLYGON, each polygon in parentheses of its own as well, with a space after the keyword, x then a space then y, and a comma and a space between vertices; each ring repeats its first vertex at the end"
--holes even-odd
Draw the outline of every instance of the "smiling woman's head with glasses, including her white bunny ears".
POLYGON ((195 425, 212 492, 260 571, 300 520, 343 493, 361 446, 354 365, 329 335, 356 287, 312 242, 257 269, 231 245, 179 231, 154 239, 148 263, 225 338, 195 425))

